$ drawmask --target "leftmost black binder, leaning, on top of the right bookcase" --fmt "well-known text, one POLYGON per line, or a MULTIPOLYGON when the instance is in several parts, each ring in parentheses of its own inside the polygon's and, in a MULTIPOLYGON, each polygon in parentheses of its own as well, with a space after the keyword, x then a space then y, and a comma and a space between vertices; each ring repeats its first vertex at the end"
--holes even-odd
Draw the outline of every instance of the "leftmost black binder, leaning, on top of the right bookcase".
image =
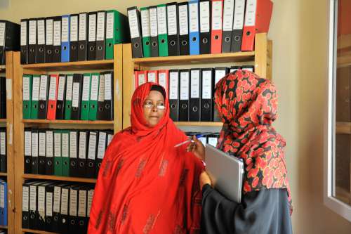
POLYGON ((140 27, 140 12, 136 6, 127 8, 133 58, 143 58, 143 44, 140 27))

